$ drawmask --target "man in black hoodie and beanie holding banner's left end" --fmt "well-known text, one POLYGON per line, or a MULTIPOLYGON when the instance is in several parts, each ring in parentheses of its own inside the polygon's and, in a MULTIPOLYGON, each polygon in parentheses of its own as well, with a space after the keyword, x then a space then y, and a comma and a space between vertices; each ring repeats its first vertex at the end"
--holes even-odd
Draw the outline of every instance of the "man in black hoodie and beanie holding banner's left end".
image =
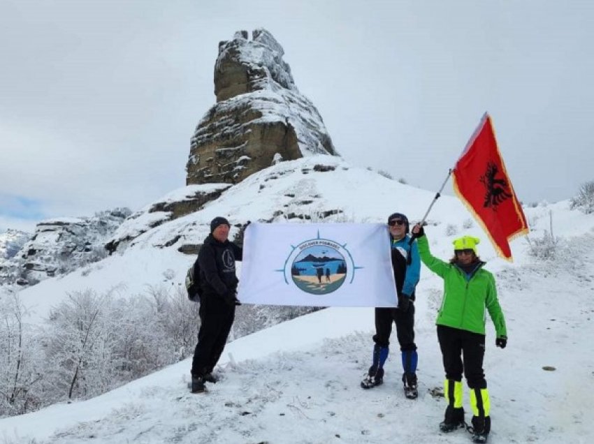
POLYGON ((235 261, 243 251, 229 242, 229 221, 215 217, 210 222, 210 235, 198 253, 200 265, 200 331, 191 365, 191 392, 204 392, 204 383, 216 383, 215 368, 225 347, 235 319, 238 279, 235 261))

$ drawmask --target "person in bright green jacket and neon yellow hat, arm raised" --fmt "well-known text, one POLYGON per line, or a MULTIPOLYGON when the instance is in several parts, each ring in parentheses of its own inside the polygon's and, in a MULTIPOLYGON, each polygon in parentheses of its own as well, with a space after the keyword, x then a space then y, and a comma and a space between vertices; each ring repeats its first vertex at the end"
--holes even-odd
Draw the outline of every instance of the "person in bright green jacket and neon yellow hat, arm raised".
POLYGON ((437 313, 437 339, 440 342, 446 380, 444 392, 448 405, 443 432, 465 426, 462 404, 462 374, 470 388, 472 408, 472 441, 486 443, 491 431, 491 403, 483 370, 485 353, 485 318, 488 311, 497 338, 495 345, 505 348, 507 329, 497 298, 495 278, 484 269, 477 253, 477 237, 463 236, 454 240, 454 257, 449 262, 435 258, 423 227, 414 225, 419 256, 428 269, 444 280, 444 296, 437 313))

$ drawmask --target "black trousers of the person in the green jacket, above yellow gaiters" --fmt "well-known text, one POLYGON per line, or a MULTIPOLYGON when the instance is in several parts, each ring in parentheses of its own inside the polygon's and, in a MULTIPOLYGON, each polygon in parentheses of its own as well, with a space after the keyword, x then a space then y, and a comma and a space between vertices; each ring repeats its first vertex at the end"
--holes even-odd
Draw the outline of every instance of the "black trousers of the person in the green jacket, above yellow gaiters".
POLYGON ((483 371, 485 335, 437 325, 444 370, 447 379, 462 380, 462 373, 471 389, 487 387, 483 371))

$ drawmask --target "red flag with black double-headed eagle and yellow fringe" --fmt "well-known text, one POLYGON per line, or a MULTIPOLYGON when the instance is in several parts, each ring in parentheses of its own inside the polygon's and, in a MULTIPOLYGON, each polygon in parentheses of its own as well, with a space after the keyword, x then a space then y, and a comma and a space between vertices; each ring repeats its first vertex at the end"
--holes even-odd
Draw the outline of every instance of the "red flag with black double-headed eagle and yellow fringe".
POLYGON ((499 256, 511 261, 508 242, 528 234, 528 223, 487 113, 454 167, 454 191, 482 225, 499 256))

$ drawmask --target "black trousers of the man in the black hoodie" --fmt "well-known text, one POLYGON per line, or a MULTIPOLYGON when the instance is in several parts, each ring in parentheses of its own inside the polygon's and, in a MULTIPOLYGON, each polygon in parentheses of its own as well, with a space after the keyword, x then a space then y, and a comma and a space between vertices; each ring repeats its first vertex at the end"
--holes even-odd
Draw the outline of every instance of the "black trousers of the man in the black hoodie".
POLYGON ((225 348, 227 336, 235 319, 235 306, 224 307, 206 297, 200 305, 200 330, 194 350, 191 374, 203 376, 215 368, 225 348))

